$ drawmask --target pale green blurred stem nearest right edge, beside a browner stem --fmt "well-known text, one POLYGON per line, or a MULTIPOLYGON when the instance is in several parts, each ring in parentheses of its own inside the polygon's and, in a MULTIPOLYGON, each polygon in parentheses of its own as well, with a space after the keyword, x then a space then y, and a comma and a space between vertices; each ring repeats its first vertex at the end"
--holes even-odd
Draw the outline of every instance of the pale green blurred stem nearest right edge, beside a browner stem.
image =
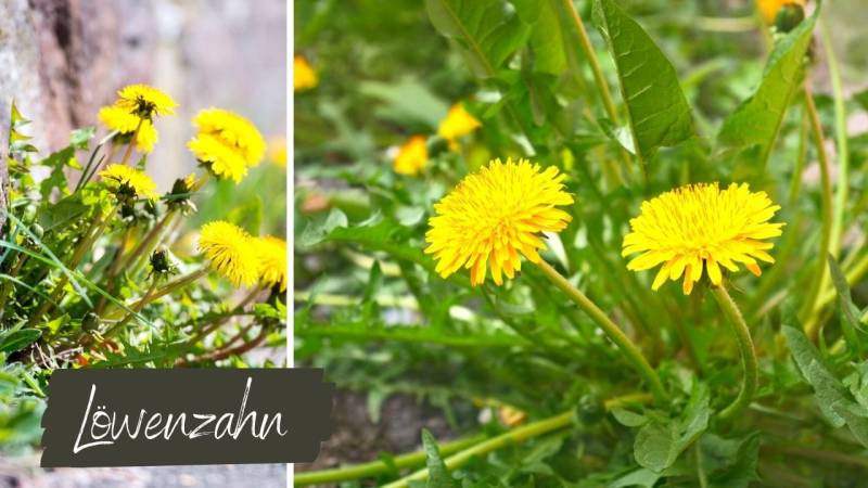
MULTIPOLYGON (((829 26, 826 24, 825 16, 820 20, 820 36, 826 52, 826 61, 829 67, 829 79, 832 82, 832 99, 834 100, 834 132, 835 132, 835 154, 838 156, 838 182, 834 195, 834 213, 832 215, 832 234, 829 244, 829 252, 838 258, 841 252, 841 230, 844 221, 844 207, 847 202, 847 188, 850 185, 850 147, 847 146, 847 113, 844 106, 844 90, 841 86, 841 72, 838 67, 838 59, 834 55, 832 38, 829 35, 829 26)), ((825 256, 821 255, 820 257, 825 256)))

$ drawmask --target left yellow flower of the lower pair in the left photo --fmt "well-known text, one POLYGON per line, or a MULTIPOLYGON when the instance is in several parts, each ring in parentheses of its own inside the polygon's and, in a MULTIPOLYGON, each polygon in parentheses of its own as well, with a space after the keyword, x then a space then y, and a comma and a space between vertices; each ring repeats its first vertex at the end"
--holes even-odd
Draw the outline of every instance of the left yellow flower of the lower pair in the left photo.
POLYGON ((238 226, 222 220, 206 223, 199 235, 199 251, 220 275, 235 286, 252 285, 259 279, 259 260, 253 237, 238 226))

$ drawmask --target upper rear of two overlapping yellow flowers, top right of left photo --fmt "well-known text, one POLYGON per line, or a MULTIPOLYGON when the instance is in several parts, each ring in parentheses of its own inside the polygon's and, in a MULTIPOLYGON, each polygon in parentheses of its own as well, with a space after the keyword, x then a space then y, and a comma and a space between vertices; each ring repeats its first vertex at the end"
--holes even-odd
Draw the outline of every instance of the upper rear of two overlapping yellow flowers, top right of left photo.
POLYGON ((206 108, 193 117, 199 136, 207 134, 238 152, 248 166, 256 166, 265 155, 265 139, 250 120, 224 108, 206 108))

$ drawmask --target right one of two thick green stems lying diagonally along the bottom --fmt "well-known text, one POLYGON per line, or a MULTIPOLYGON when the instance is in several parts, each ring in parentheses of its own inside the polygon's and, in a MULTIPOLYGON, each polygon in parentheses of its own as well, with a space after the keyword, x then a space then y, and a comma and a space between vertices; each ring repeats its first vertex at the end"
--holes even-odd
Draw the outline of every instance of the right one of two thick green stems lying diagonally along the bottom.
MULTIPOLYGON (((446 464, 447 470, 455 470, 467 464, 468 461, 475 457, 487 454, 509 445, 519 444, 534 437, 539 437, 550 432, 566 427, 572 423, 572 411, 564 412, 541 421, 533 422, 459 451, 458 453, 446 458, 444 463, 446 464)), ((427 475, 427 468, 420 470, 409 476, 398 479, 397 481, 384 485, 383 488, 407 488, 410 481, 426 479, 427 475)))

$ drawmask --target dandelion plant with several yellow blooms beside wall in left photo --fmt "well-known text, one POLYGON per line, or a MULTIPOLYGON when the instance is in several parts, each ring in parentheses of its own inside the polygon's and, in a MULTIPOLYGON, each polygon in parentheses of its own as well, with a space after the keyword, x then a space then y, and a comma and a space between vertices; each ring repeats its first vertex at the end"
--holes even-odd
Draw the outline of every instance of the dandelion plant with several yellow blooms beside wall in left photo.
POLYGON ((286 243, 257 236, 260 202, 227 211, 210 195, 222 180, 241 182, 266 143, 240 115, 203 110, 188 144, 201 170, 161 193, 148 156, 157 119, 175 108, 155 88, 125 87, 99 112, 105 137, 94 143, 94 127, 75 130, 66 147, 38 158, 12 104, 0 231, 5 452, 38 442, 58 368, 243 367, 256 347, 283 347, 286 243), (222 217, 195 237, 197 201, 222 217))

